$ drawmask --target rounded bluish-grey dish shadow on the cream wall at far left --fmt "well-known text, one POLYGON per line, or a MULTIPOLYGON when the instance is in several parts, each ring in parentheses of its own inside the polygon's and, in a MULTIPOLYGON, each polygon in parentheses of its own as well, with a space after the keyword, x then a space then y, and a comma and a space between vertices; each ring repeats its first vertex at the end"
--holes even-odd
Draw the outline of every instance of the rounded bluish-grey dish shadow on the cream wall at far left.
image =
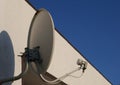
MULTIPOLYGON (((0 79, 14 76, 14 49, 6 31, 0 33, 0 79)), ((12 82, 3 85, 11 85, 12 82)))

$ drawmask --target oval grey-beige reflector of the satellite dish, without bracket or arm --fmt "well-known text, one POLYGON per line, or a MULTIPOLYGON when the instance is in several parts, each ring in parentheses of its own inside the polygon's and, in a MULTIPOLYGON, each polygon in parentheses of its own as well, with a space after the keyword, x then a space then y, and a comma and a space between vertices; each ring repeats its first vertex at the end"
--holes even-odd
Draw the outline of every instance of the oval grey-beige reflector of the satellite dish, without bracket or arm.
POLYGON ((28 35, 28 48, 38 49, 40 62, 32 63, 34 69, 43 74, 49 67, 54 37, 54 23, 50 13, 46 9, 36 12, 31 22, 28 35))

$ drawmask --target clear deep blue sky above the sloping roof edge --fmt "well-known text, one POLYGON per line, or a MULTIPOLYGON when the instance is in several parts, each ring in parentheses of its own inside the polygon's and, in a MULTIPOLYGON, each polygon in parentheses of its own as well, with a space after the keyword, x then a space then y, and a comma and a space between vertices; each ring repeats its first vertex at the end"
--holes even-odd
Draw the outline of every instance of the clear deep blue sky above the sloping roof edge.
POLYGON ((28 0, 114 85, 120 84, 120 0, 28 0))

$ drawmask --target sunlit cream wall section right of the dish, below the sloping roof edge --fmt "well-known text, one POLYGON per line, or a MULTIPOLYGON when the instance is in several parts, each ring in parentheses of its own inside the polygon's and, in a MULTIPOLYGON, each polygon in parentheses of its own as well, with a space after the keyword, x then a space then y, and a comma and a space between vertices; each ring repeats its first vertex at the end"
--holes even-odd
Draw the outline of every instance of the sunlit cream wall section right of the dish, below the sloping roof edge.
MULTIPOLYGON (((78 67, 77 59, 85 60, 59 33, 55 31, 53 59, 48 72, 60 77, 78 67)), ((85 60, 86 61, 86 60, 85 60)), ((80 76, 82 71, 74 73, 80 76)), ((91 64, 81 78, 68 77, 63 80, 68 85, 111 85, 91 64)))

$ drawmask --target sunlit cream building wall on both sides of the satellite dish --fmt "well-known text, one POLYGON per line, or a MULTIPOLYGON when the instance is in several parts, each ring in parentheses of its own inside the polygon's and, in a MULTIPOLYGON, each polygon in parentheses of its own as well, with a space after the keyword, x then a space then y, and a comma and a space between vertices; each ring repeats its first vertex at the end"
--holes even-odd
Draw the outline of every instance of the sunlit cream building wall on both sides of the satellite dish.
MULTIPOLYGON (((21 58, 17 55, 24 52, 27 46, 28 30, 34 13, 35 10, 24 0, 0 0, 0 32, 5 30, 12 40, 15 58, 14 76, 21 72, 21 58)), ((58 78, 77 68, 78 58, 85 59, 57 31, 54 32, 53 58, 48 72, 58 78)), ((2 68, 4 67, 0 67, 2 68)), ((81 71, 73 75, 79 76, 81 71)), ((111 85, 90 63, 81 78, 68 77, 63 81, 68 85, 111 85)), ((12 85, 21 84, 21 80, 18 80, 12 85)))

